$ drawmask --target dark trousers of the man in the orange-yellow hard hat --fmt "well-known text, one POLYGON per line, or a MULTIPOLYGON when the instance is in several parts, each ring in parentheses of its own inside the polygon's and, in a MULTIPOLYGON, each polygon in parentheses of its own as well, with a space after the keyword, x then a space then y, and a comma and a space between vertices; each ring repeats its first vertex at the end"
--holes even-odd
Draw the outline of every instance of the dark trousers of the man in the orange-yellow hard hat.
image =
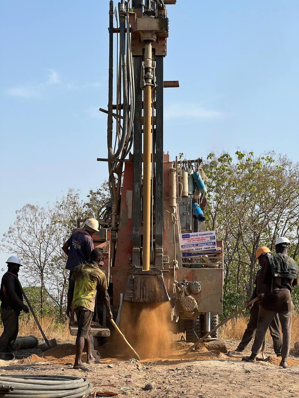
MULTIPOLYGON (((244 349, 247 347, 247 345, 250 343, 251 339, 253 338, 254 333, 256 332, 256 328, 258 326, 259 308, 260 308, 260 304, 255 302, 250 310, 250 318, 249 318, 247 328, 244 332, 242 340, 240 341, 238 347, 236 348, 236 351, 244 351, 244 349)), ((272 319, 271 323, 269 324, 269 332, 270 332, 271 338, 273 339, 274 352, 275 352, 275 354, 280 354, 282 341, 281 341, 281 335, 279 332, 279 320, 278 320, 277 314, 275 314, 274 318, 272 319)))

